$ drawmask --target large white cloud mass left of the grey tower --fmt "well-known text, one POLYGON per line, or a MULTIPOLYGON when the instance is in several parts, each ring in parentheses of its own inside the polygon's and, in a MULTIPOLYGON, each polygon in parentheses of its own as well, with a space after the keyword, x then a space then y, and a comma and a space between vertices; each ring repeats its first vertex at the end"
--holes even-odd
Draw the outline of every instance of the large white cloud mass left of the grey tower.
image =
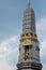
POLYGON ((17 36, 13 36, 10 39, 6 39, 0 43, 0 70, 16 69, 15 65, 18 57, 18 44, 19 37, 17 36))

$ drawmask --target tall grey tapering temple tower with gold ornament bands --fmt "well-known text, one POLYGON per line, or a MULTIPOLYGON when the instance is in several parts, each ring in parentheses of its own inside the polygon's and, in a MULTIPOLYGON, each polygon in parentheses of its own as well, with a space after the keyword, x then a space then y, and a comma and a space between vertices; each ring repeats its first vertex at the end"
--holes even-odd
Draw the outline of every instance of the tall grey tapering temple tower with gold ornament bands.
POLYGON ((35 15, 30 1, 24 12, 17 70, 42 70, 40 43, 35 28, 35 15))

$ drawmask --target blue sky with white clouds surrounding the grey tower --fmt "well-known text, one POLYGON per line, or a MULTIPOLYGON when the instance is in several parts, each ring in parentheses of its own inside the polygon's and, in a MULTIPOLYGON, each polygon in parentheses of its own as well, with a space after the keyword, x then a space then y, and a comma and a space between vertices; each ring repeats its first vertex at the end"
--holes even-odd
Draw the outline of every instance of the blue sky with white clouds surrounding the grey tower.
MULTIPOLYGON (((22 15, 28 0, 0 0, 0 70, 16 70, 22 15)), ((46 0, 31 0, 43 70, 46 69, 46 0)))

